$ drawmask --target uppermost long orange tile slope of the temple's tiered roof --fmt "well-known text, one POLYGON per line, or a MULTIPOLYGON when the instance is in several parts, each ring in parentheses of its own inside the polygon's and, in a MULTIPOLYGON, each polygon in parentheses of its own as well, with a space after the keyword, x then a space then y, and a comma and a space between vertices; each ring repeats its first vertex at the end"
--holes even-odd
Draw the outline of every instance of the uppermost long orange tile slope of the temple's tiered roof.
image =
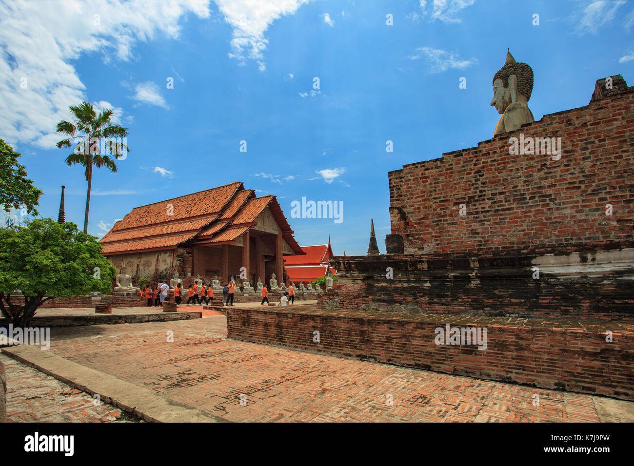
POLYGON ((154 204, 134 207, 132 212, 113 226, 113 230, 124 230, 139 226, 149 226, 156 223, 178 221, 190 217, 216 214, 230 202, 242 183, 234 181, 210 190, 198 191, 173 199, 167 199, 154 204), (169 204, 172 207, 169 207, 169 204), (169 215, 172 214, 173 215, 169 215))

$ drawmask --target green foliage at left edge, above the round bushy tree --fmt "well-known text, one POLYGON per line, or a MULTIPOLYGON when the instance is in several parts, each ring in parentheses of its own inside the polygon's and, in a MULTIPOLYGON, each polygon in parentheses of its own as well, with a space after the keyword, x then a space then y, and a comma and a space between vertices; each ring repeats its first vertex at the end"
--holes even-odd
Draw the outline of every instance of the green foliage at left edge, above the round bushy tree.
POLYGON ((42 191, 27 179, 24 165, 18 163, 20 153, 0 139, 0 205, 9 212, 24 207, 29 214, 37 215, 36 205, 42 191))

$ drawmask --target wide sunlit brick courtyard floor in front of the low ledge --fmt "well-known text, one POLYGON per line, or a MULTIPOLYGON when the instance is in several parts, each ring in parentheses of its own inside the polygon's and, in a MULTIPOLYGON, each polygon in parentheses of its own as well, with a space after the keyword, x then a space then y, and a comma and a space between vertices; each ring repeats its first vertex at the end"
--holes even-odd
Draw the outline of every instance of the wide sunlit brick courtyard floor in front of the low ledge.
POLYGON ((232 421, 600 420, 586 394, 226 339, 222 315, 54 328, 51 340, 58 356, 232 421))

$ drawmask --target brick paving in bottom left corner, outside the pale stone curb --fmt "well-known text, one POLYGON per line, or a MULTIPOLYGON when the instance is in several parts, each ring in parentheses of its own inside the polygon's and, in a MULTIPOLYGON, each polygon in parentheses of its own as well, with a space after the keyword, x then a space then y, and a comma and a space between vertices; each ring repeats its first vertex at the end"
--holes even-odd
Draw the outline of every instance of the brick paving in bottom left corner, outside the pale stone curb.
MULTIPOLYGON (((7 422, 139 422, 57 379, 0 356, 7 373, 7 422)), ((142 421, 140 421, 142 422, 142 421)))

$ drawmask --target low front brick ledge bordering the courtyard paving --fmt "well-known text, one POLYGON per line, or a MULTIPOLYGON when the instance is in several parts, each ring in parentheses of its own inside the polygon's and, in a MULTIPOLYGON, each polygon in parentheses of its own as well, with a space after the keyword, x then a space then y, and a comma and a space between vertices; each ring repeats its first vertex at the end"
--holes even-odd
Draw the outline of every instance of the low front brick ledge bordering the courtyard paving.
POLYGON ((237 340, 634 400, 634 325, 231 307, 227 328, 228 337, 237 340), (446 324, 486 328, 486 349, 436 344, 435 330, 446 324), (314 331, 320 332, 319 342, 314 331), (605 341, 607 331, 612 342, 605 341))

